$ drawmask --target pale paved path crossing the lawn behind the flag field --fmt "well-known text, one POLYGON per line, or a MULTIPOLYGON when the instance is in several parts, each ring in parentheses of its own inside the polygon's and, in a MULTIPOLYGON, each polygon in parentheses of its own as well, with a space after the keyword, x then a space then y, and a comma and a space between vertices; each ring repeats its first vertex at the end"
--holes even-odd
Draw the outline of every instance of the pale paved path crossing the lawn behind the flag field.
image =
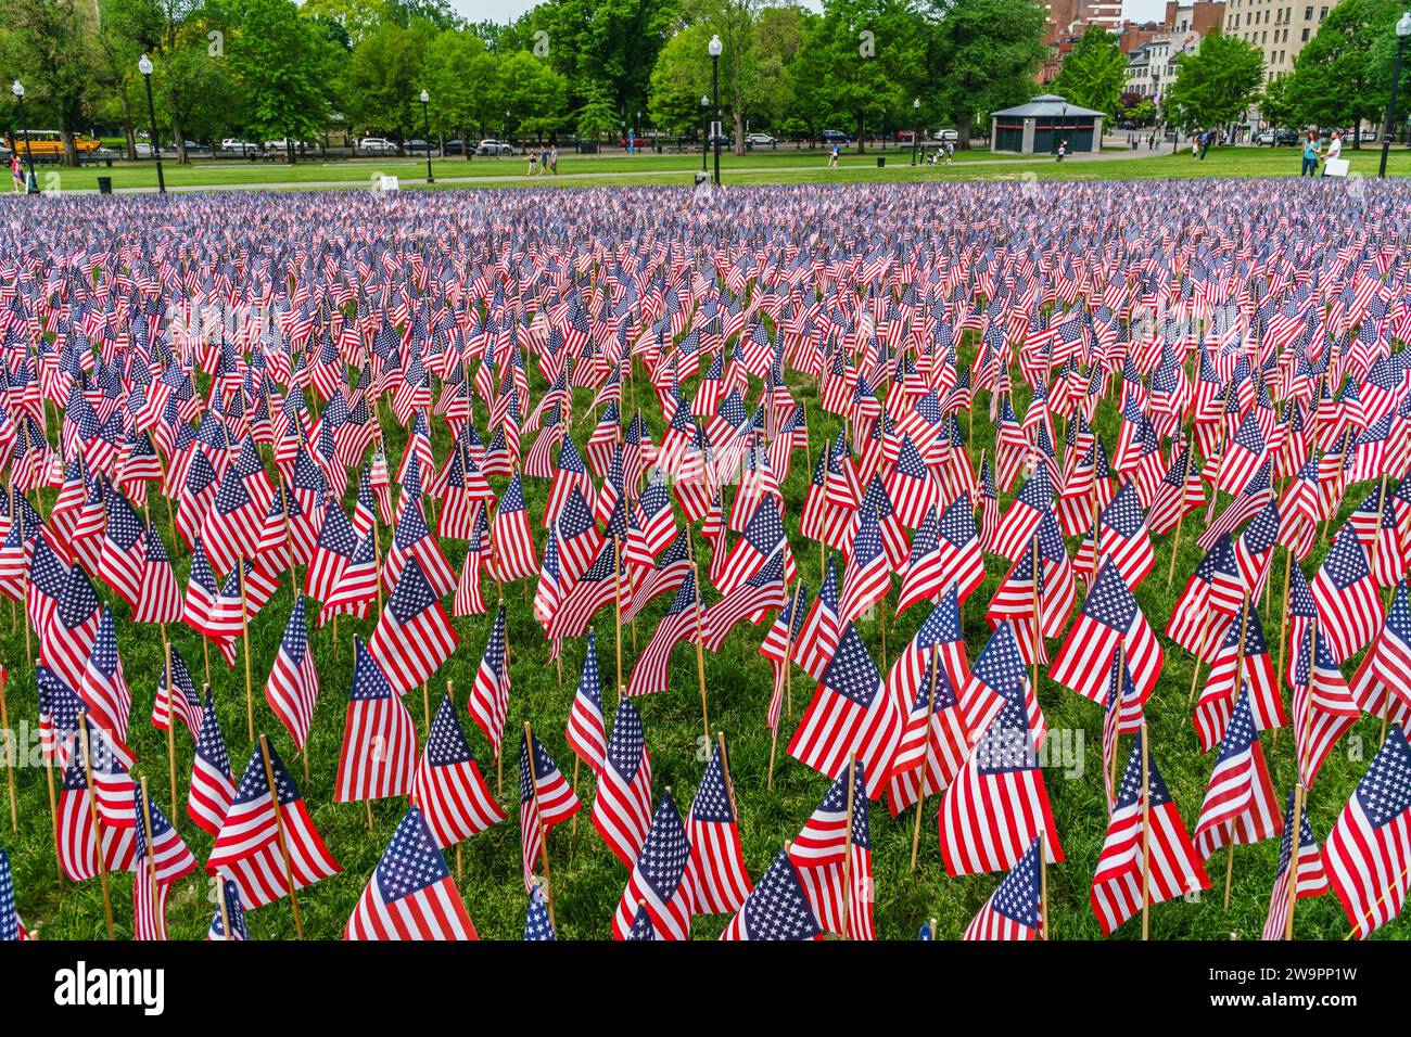
MULTIPOLYGON (((1126 144, 1125 140, 1109 138, 1105 141, 1109 147, 1126 144)), ((1068 155, 1065 162, 1095 162, 1095 161, 1125 161, 1130 158, 1153 158, 1156 155, 1168 155, 1170 151, 1163 151, 1157 148, 1156 151, 1147 151, 1146 147, 1137 148, 1136 151, 1101 151, 1101 152, 1081 152, 1068 155)), ((888 155, 892 158, 892 155, 888 155)), ((976 158, 974 161, 955 162, 950 169, 962 172, 971 166, 992 166, 992 165, 1034 165, 1043 162, 1041 158, 1023 158, 1022 155, 1015 155, 1013 158, 976 158)), ((899 166, 909 165, 909 159, 903 157, 903 161, 897 162, 899 166)), ((818 157, 818 165, 759 165, 759 166, 734 166, 727 171, 729 174, 748 172, 755 174, 807 174, 827 166, 827 158, 824 155, 818 157)), ((848 169, 871 169, 872 166, 864 165, 845 165, 841 172, 848 169)), ((604 172, 574 172, 574 174, 559 174, 557 176, 547 178, 549 183, 564 183, 571 181, 601 181, 601 179, 631 179, 631 178, 649 178, 649 179, 683 179, 687 183, 696 175, 696 169, 610 169, 604 172)), ((425 178, 420 176, 402 176, 399 178, 408 185, 425 185, 425 178)), ((528 176, 525 174, 505 174, 505 175, 490 175, 490 176, 437 176, 436 183, 456 183, 456 185, 504 185, 504 183, 542 183, 543 176, 528 176)), ((189 195, 200 193, 206 190, 319 190, 327 188, 347 188, 353 190, 365 190, 371 183, 371 176, 367 181, 279 181, 279 182, 243 182, 243 183, 182 183, 169 185, 166 193, 169 195, 189 195)), ((96 189, 73 190, 65 193, 75 195, 96 195, 96 189)), ((114 188, 116 195, 154 195, 157 193, 155 186, 141 186, 141 188, 114 188)))

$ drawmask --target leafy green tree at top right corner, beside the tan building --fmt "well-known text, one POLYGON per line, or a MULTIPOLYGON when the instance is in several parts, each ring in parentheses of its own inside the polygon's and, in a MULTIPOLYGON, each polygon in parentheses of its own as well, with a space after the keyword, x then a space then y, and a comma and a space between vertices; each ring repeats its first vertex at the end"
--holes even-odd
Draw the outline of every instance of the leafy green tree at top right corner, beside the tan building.
POLYGON ((1288 100, 1300 119, 1316 126, 1352 126, 1353 147, 1362 121, 1386 116, 1391 65, 1384 47, 1395 37, 1401 0, 1343 0, 1294 61, 1288 100))

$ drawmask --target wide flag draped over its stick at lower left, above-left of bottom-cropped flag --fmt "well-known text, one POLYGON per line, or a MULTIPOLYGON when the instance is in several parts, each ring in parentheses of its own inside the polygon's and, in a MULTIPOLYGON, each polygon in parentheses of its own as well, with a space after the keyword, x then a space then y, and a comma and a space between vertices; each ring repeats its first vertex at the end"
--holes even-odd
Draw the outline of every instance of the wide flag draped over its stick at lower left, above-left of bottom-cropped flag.
POLYGON ((261 738, 216 834, 206 872, 229 875, 241 902, 254 909, 288 896, 291 878, 293 887, 302 889, 340 871, 309 817, 299 786, 274 746, 261 738))

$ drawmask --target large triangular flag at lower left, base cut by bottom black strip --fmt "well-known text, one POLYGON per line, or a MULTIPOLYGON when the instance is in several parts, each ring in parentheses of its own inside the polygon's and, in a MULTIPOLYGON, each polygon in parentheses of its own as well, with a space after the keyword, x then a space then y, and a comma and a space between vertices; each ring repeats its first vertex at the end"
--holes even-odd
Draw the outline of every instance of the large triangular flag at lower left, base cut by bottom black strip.
POLYGON ((346 940, 476 940, 426 818, 411 807, 353 909, 346 940))

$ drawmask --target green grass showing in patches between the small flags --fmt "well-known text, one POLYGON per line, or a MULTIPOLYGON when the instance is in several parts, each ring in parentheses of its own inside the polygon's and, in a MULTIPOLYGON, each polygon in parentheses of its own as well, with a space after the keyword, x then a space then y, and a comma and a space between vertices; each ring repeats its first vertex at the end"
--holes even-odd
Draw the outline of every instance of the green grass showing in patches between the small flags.
MULTIPOLYGON (((974 357, 975 343, 967 336, 961 363, 974 357)), ((686 387, 691 392, 690 385, 686 387)), ((635 381, 635 402, 652 426, 653 437, 660 443, 660 412, 650 398, 650 389, 642 371, 635 381)), ((536 385, 542 391, 542 385, 536 385)), ((794 380, 796 398, 809 408, 811 449, 814 456, 837 432, 837 420, 821 412, 817 385, 811 381, 794 380)), ((1027 391, 1017 391, 1016 405, 1027 404, 1027 391)), ((579 392, 574 413, 580 420, 574 435, 587 437, 593 426, 588 415, 591 396, 579 392)), ((384 427, 391 437, 392 461, 399 456, 404 442, 402 432, 391 420, 387 408, 384 427)), ((1020 412, 1023 408, 1020 406, 1020 412)), ((483 412, 477 420, 484 435, 483 412)), ((1103 401, 1096 420, 1096 429, 1108 444, 1115 442, 1118 419, 1113 404, 1103 401)), ((981 394, 975 405, 974 432, 969 437, 972 460, 978 463, 982 449, 993 444, 995 430, 988 420, 988 399, 981 394)), ((449 440, 443 429, 437 429, 436 453, 446 457, 449 440)), ((526 443, 528 449, 528 443, 526 443)), ((394 468, 395 471, 395 468, 394 468)), ((799 535, 797 519, 803 507, 809 471, 804 457, 794 459, 789 478, 783 484, 787 502, 786 523, 792 535, 800 571, 816 591, 820 571, 818 550, 799 535)), ((504 480, 494 481, 495 490, 502 490, 504 480)), ((1349 488, 1340 518, 1345 519, 1352 507, 1364 494, 1364 487, 1349 488)), ((546 499, 546 487, 531 480, 528 487, 531 514, 538 518, 546 499)), ((45 495, 45 509, 52 505, 52 495, 45 495)), ((1003 504, 1007 505, 1006 495, 1003 504)), ((1167 586, 1167 564, 1173 550, 1173 536, 1154 539, 1157 569, 1137 590, 1137 600, 1149 619, 1160 631, 1170 615, 1177 593, 1195 569, 1201 552, 1195 543, 1201 529, 1201 512, 1192 514, 1184 525, 1175 566, 1174 588, 1167 586)), ((165 507, 154 505, 151 516, 161 530, 168 549, 176 543, 166 521, 165 507)), ((535 523, 536 536, 542 530, 535 523)), ((382 543, 388 543, 384 529, 382 543)), ((703 550, 708 547, 697 538, 703 550)), ((1070 549, 1075 542, 1070 540, 1070 549)), ((459 567, 464 556, 464 545, 446 543, 447 554, 459 567)), ((1325 547, 1319 545, 1305 571, 1321 560, 1325 547)), ((186 552, 174 552, 178 578, 185 587, 189 563, 186 552)), ((703 564, 708 553, 703 553, 703 564)), ((1006 564, 1002 559, 986 559, 988 580, 964 608, 964 631, 969 657, 985 645, 988 628, 983 619, 985 604, 989 601, 1006 564)), ((1274 560, 1274 573, 1283 567, 1281 552, 1274 560)), ((302 577, 302 573, 301 573, 302 577)), ((1278 580, 1271 580, 1273 594, 1267 602, 1266 615, 1271 621, 1266 626, 1267 638, 1277 645, 1278 622, 1283 615, 1278 580)), ((265 607, 251 625, 250 649, 251 669, 255 676, 255 729, 267 732, 284 755, 291 772, 302 784, 302 770, 295 760, 286 734, 275 721, 262 697, 262 680, 268 674, 285 619, 291 608, 291 597, 285 588, 265 607)), ((100 588, 104 600, 110 598, 100 588)), ((508 601, 508 635, 511 673, 514 690, 509 700, 507 721, 508 759, 505 759, 504 786, 499 801, 508 813, 507 821, 495 825, 464 844, 457 859, 449 854, 453 869, 460 872, 460 890, 483 937, 518 938, 525 911, 525 893, 519 865, 519 825, 516 793, 516 752, 519 731, 525 720, 535 724, 535 732, 559 762, 566 775, 573 775, 573 755, 567 749, 563 725, 567 718, 574 686, 583 665, 584 643, 569 642, 564 646, 562 683, 556 666, 547 659, 547 646, 538 622, 529 608, 532 581, 519 581, 504 588, 508 601)), ((494 608, 494 584, 485 584, 487 600, 494 608)), ((714 598, 711 591, 708 598, 714 598)), ((880 612, 882 618, 859 625, 873 656, 883 656, 882 638, 885 626, 888 662, 914 635, 924 618, 924 608, 913 608, 897 621, 892 621, 896 601, 895 586, 890 602, 880 612)), ((645 648, 656 619, 666 607, 665 600, 653 602, 641 618, 636 629, 624 631, 622 667, 624 677, 631 672, 639 649, 645 648)), ((135 773, 150 779, 157 801, 168 808, 168 769, 165 738, 148 722, 161 670, 162 646, 154 626, 134 625, 128 621, 128 610, 116 604, 119 617, 119 642, 128 684, 134 693, 133 724, 130 741, 138 753, 135 773)), ((436 696, 446 680, 454 681, 456 701, 460 717, 467 728, 471 745, 481 762, 491 787, 495 786, 495 765, 490 759, 490 748, 480 732, 468 722, 464 703, 474 681, 476 669, 490 629, 491 615, 457 619, 456 629, 461 643, 452 660, 436 674, 432 686, 432 711, 436 696)), ((368 876, 371 875, 384 845, 391 838, 396 823, 405 811, 405 803, 380 801, 373 804, 373 831, 368 831, 367 811, 363 804, 334 804, 333 782, 341 745, 346 694, 351 677, 351 638, 364 639, 373 631, 373 621, 350 621, 344 617, 334 643, 333 628, 327 626, 312 633, 312 645, 322 680, 322 694, 313 721, 309 744, 312 782, 305 787, 305 799, 315 823, 322 831, 333 855, 343 866, 343 873, 317 883, 301 896, 305 933, 309 938, 337 938, 344 921, 353 910, 368 876)), ((605 684, 605 712, 611 717, 617 704, 612 693, 615 684, 615 645, 612 632, 612 611, 598 614, 598 659, 605 684)), ((6 626, 0 621, 0 631, 6 626)), ((793 672, 793 703, 782 724, 782 739, 775 772, 773 792, 766 790, 766 775, 770 755, 770 741, 765 728, 765 707, 770 694, 769 666, 756 653, 763 635, 762 629, 744 625, 731 633, 722 650, 706 657, 706 680, 708 686, 710 729, 724 731, 728 739, 731 772, 741 813, 741 837, 745 859, 753 878, 779 852, 780 847, 793 838, 814 806, 827 792, 830 782, 803 768, 785 753, 785 745, 793 732, 800 712, 813 693, 811 681, 801 670, 793 672)), ((172 643, 182 652, 193 672, 202 667, 199 638, 182 625, 171 628, 172 643)), ((1061 642, 1050 642, 1051 655, 1061 642)), ((1187 694, 1191 686, 1191 657, 1163 638, 1165 665, 1163 679, 1150 705, 1149 718, 1153 731, 1153 760, 1161 769, 1188 828, 1194 828, 1205 784, 1215 762, 1213 753, 1201 755, 1187 708, 1187 694)), ((31 649, 32 650, 32 649, 31 649)), ((37 715, 32 669, 23 663, 25 639, 18 628, 0 633, 0 652, 10 663, 7 687, 11 724, 27 721, 34 724, 37 715)), ((231 763, 238 776, 250 758, 251 742, 246 729, 246 689, 243 660, 234 670, 227 670, 217 653, 213 656, 213 683, 217 710, 230 746, 231 763)), ((1348 670, 1350 673, 1350 669, 1348 670)), ((1092 879, 1098 854, 1106 828, 1106 814, 1102 803, 1101 776, 1101 717, 1098 707, 1079 700, 1078 696, 1055 686, 1043 677, 1038 698, 1054 732, 1053 745, 1058 745, 1062 729, 1084 738, 1082 770, 1075 777, 1065 777, 1057 765, 1046 769, 1048 794, 1057 821, 1067 861, 1048 869, 1048 892, 1055 938, 1077 940, 1099 935, 1096 920, 1088 904, 1088 887, 1092 879)), ((422 696, 416 691, 406 697, 406 704, 425 738, 422 696)), ((670 786, 683 811, 689 810, 696 786, 704 769, 700 739, 703 738, 701 707, 697 693, 694 653, 689 646, 679 648, 672 657, 670 689, 638 703, 648 732, 652 753, 652 770, 656 793, 670 786)), ((1266 753, 1280 797, 1292 787, 1292 739, 1288 732, 1277 742, 1266 738, 1266 753)), ((1350 739, 1340 742, 1329 756, 1314 790, 1308 813, 1319 841, 1326 835, 1333 818, 1346 801, 1357 777, 1366 768, 1377 745, 1377 724, 1362 722, 1350 739), (1360 755, 1352 751, 1357 749, 1360 755)), ((1126 751, 1126 744, 1123 752, 1126 751)), ((1125 756, 1123 756, 1125 759, 1125 756)), ((183 731, 176 736, 178 786, 182 810, 176 815, 181 832, 188 839, 199 859, 210 852, 212 839, 200 832, 185 815, 185 790, 192 760, 192 745, 183 731)), ((49 835, 49 818, 42 769, 20 769, 16 773, 20 799, 21 830, 18 835, 8 832, 8 820, 0 813, 0 842, 11 851, 16 871, 16 887, 23 917, 40 928, 44 938, 102 938, 104 935, 100 886, 96 880, 73 885, 59 879, 49 835)), ((577 831, 569 825, 555 831, 550 842, 550 865, 556 895, 556 914, 560 935, 564 938, 607 938, 611 931, 611 916, 626 882, 626 871, 605 848, 588 823, 591 807, 591 782, 584 772, 577 782, 579 794, 584 803, 577 831)), ((957 937, 975 910, 985 902, 998 883, 998 875, 982 875, 962 879, 948 879, 940 858, 937 844, 938 797, 927 801, 920 841, 919 866, 909 868, 913 814, 892 820, 885 801, 872 806, 871 825, 873 841, 873 869, 876 875, 876 924, 878 933, 889 938, 907 938, 927 917, 940 920, 940 931, 947 938, 957 937)), ((1233 858, 1233 890, 1229 911, 1222 907, 1226 855, 1218 854, 1209 862, 1213 889, 1197 903, 1174 902, 1161 904, 1151 911, 1151 933, 1154 938, 1206 938, 1225 940, 1230 934, 1242 940, 1257 938, 1268 900, 1268 889, 1274 876, 1277 844, 1270 841, 1256 847, 1242 847, 1233 858)), ((131 934, 131 876, 111 876, 111 897, 120 937, 131 934)), ((209 887, 202 875, 182 880, 174 890, 169 906, 169 928, 174 938, 196 938, 206 928, 212 904, 206 900, 209 887)), ((1346 920, 1332 896, 1298 906, 1298 934, 1304 938, 1339 938, 1346 933, 1346 920)), ((260 940, 291 938, 293 923, 288 903, 278 903, 251 911, 248 916, 251 934, 260 940)), ((698 937, 714 937, 725 924, 725 917, 698 918, 694 933, 698 937)), ((1404 935, 1401 924, 1387 930, 1388 937, 1404 935)), ((1140 934, 1139 923, 1129 923, 1119 931, 1120 938, 1140 934)))

